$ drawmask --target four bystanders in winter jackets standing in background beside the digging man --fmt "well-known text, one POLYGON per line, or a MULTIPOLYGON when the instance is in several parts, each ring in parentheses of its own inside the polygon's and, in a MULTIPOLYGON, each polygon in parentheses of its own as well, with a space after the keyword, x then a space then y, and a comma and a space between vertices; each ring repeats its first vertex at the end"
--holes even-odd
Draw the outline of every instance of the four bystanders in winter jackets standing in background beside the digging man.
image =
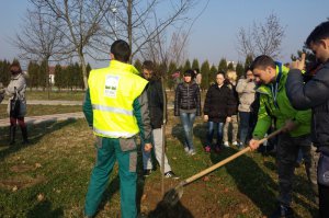
MULTIPOLYGON (((174 97, 174 115, 180 116, 184 129, 184 150, 192 156, 195 154, 193 123, 202 114, 201 91, 193 76, 193 70, 183 73, 183 81, 178 84, 174 97)), ((206 152, 212 149, 219 152, 223 146, 229 147, 229 136, 232 145, 240 149, 248 142, 252 130, 250 117, 256 111, 252 108, 256 83, 250 70, 246 77, 237 82, 236 71, 217 72, 215 82, 207 90, 203 106, 203 119, 207 122, 206 152), (213 145, 215 131, 217 141, 213 145)))

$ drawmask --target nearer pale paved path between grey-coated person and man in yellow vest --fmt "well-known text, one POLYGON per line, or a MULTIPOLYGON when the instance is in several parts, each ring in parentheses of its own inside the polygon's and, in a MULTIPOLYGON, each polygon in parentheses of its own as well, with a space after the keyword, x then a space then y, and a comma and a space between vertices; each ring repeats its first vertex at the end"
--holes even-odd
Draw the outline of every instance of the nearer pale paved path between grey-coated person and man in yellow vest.
MULTIPOLYGON (((25 117, 26 124, 39 124, 43 122, 59 122, 66 119, 78 119, 83 118, 82 112, 76 113, 67 113, 67 114, 50 114, 50 115, 43 115, 43 116, 30 116, 25 117)), ((9 118, 0 119, 0 127, 9 126, 9 118)))

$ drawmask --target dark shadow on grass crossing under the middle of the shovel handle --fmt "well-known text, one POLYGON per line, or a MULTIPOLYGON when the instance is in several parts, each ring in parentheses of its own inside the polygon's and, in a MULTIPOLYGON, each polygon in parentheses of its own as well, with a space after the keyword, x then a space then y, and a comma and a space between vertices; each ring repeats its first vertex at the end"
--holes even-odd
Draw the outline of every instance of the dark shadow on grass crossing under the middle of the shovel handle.
MULTIPOLYGON (((227 148, 219 154, 212 153, 211 160, 215 164, 236 152, 237 150, 227 148)), ((263 215, 269 215, 275 209, 277 183, 252 158, 242 154, 225 164, 225 168, 232 176, 237 188, 247 195, 263 215)))

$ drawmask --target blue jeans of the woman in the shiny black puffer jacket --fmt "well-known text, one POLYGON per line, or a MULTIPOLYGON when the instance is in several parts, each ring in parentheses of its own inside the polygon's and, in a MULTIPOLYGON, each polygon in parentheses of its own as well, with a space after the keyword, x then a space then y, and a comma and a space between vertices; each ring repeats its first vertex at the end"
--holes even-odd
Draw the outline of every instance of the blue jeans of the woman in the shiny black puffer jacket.
POLYGON ((195 119, 195 113, 180 113, 181 122, 184 128, 184 147, 188 147, 189 150, 194 150, 193 146, 193 123, 195 119))

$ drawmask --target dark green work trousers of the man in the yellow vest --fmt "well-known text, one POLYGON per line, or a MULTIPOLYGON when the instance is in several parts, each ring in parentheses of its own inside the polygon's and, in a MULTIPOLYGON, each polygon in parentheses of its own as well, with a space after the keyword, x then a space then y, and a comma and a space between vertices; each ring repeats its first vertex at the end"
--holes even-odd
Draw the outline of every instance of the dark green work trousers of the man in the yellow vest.
MULTIPOLYGON (((106 190, 114 163, 118 162, 121 215, 123 218, 137 217, 136 208, 136 163, 135 149, 123 151, 122 139, 98 138, 97 163, 92 170, 86 197, 84 215, 93 216, 97 213, 102 195, 106 190)), ((136 144, 135 144, 136 145, 136 144)))

